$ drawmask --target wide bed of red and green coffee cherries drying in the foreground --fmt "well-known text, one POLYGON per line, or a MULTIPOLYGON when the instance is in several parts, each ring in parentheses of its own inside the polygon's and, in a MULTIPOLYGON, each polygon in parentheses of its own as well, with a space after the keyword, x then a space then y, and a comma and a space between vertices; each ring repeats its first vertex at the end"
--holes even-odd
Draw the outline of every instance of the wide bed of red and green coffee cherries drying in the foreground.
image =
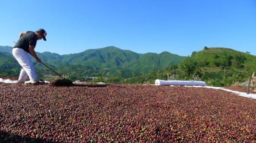
POLYGON ((255 109, 207 88, 0 83, 0 142, 255 142, 255 109))

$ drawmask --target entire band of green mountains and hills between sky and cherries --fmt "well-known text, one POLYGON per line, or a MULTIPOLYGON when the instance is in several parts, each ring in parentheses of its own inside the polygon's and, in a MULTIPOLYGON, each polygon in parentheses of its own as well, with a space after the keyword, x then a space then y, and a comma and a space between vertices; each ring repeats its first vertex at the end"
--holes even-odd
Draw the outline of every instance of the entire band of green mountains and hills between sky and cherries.
MULTIPOLYGON (((94 82, 154 83, 162 80, 201 80, 213 86, 228 86, 248 80, 256 71, 256 56, 229 48, 207 48, 183 57, 170 52, 139 54, 114 46, 59 55, 37 52, 49 67, 71 80, 94 82), (90 80, 89 80, 90 81, 90 80)), ((31 57, 37 77, 53 74, 31 57)), ((21 66, 12 56, 12 47, 0 46, 0 76, 19 76, 21 66)), ((54 75, 54 74, 53 74, 54 75)), ((46 79, 47 80, 47 79, 46 79)), ((50 80, 50 79, 49 79, 50 80)))

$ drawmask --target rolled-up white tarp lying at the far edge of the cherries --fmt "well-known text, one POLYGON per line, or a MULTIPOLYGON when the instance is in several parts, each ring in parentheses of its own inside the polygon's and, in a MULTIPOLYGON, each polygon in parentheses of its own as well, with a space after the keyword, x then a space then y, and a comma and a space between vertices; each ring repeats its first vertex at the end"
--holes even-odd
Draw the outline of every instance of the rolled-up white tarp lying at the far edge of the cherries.
POLYGON ((163 81, 163 80, 155 80, 156 85, 186 85, 186 86, 205 86, 205 82, 201 81, 163 81))

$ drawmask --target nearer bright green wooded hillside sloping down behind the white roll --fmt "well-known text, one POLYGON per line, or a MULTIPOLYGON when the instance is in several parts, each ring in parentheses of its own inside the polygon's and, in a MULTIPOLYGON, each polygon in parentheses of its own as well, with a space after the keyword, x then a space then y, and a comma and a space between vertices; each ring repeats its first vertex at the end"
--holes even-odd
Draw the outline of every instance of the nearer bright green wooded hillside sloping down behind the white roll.
POLYGON ((208 85, 229 86, 248 80, 256 72, 256 56, 228 48, 207 48, 194 51, 179 64, 149 74, 127 79, 153 83, 155 79, 200 80, 208 85))

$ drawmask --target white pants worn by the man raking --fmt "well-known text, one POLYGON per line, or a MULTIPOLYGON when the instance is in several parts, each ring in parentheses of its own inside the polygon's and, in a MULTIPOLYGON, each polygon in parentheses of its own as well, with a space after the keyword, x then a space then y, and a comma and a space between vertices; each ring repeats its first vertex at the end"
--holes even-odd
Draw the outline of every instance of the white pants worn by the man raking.
POLYGON ((38 82, 35 76, 35 68, 29 57, 29 53, 21 48, 13 48, 12 55, 23 67, 18 82, 25 82, 28 77, 32 83, 38 82))

